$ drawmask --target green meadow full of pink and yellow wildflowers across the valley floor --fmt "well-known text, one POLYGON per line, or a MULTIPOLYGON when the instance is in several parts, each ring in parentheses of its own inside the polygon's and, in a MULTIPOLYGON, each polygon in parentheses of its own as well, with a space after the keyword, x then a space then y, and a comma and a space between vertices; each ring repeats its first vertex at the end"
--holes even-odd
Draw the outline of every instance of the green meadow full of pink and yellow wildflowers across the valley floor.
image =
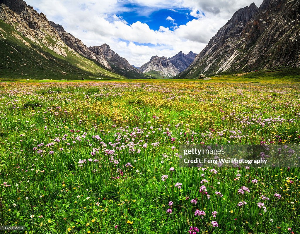
POLYGON ((299 88, 0 83, 0 225, 32 234, 299 233, 299 168, 179 167, 182 144, 299 144, 299 88))

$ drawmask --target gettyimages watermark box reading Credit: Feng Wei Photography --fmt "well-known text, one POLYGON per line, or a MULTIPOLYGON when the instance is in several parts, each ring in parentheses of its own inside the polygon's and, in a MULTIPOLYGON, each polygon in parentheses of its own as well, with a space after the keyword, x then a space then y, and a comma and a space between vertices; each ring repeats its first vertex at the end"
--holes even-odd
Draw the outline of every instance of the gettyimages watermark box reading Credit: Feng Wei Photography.
POLYGON ((300 145, 181 145, 182 167, 300 167, 300 145))

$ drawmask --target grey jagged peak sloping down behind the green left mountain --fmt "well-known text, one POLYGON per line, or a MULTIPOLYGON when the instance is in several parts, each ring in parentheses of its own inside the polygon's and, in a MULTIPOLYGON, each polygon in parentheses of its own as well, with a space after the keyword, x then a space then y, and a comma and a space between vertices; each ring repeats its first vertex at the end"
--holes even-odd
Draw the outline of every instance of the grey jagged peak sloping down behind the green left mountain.
POLYGON ((111 50, 110 46, 107 44, 103 44, 102 46, 92 46, 88 49, 96 56, 103 55, 111 69, 120 75, 126 76, 130 79, 149 78, 137 68, 129 64, 125 58, 122 58, 120 55, 111 50))

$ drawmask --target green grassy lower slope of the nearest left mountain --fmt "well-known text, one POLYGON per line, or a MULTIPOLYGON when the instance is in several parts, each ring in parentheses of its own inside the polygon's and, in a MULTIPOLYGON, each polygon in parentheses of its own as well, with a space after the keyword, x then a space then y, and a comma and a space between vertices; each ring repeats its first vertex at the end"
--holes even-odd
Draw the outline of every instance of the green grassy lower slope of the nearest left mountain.
MULTIPOLYGON (((49 36, 48 43, 56 41, 49 36)), ((43 44, 41 42, 41 44, 43 44)), ((63 48, 67 56, 61 56, 48 47, 38 46, 22 36, 12 26, 0 20, 0 78, 3 79, 125 79, 106 70, 78 53, 63 48), (62 73, 67 73, 63 75, 62 73)))

